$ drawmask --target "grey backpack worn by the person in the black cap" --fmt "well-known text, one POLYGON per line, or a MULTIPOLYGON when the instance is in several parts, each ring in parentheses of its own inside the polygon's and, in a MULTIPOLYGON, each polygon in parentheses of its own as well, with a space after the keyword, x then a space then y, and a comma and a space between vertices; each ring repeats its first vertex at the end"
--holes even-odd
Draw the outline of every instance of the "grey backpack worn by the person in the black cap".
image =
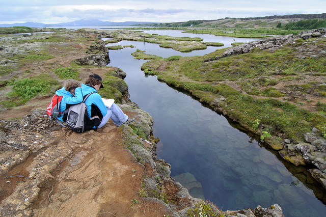
POLYGON ((84 96, 83 102, 71 105, 67 110, 63 112, 64 114, 67 114, 66 123, 68 127, 75 132, 84 132, 90 129, 96 130, 98 125, 101 123, 101 120, 98 116, 94 116, 92 118, 89 118, 88 116, 85 100, 92 93, 84 96))

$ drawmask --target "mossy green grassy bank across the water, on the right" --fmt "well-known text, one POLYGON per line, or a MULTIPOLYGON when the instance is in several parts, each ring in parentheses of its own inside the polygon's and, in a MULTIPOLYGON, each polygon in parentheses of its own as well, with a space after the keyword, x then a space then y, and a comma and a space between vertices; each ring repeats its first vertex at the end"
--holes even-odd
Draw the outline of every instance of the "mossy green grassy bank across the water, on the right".
POLYGON ((157 59, 142 69, 219 108, 279 149, 285 138, 303 141, 313 127, 326 126, 326 56, 320 55, 325 46, 324 38, 300 39, 278 49, 254 49, 218 61, 206 62, 224 49, 203 57, 157 59), (158 71, 163 65, 165 69, 158 71))

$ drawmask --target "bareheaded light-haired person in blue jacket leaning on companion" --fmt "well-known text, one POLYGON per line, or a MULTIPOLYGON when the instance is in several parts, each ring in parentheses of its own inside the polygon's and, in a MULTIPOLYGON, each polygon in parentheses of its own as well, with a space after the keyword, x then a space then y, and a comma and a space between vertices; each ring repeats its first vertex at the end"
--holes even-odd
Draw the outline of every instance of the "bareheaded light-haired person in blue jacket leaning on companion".
MULTIPOLYGON (((64 87, 56 91, 58 96, 63 96, 60 102, 60 112, 62 113, 72 104, 78 104, 83 101, 83 94, 80 82, 74 79, 68 79, 64 83, 64 87)), ((61 115, 57 119, 65 122, 64 116, 61 115)))

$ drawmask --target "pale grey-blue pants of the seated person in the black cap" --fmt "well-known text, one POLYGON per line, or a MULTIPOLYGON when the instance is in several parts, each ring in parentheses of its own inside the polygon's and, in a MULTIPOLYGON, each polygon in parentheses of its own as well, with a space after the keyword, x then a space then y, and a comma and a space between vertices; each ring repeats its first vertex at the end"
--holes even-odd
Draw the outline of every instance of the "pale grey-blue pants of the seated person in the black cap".
POLYGON ((100 125, 98 125, 97 128, 101 128, 102 126, 104 126, 110 118, 113 123, 117 126, 121 126, 124 122, 128 120, 128 116, 122 112, 121 108, 116 103, 113 103, 111 107, 106 108, 107 114, 103 117, 100 125))

